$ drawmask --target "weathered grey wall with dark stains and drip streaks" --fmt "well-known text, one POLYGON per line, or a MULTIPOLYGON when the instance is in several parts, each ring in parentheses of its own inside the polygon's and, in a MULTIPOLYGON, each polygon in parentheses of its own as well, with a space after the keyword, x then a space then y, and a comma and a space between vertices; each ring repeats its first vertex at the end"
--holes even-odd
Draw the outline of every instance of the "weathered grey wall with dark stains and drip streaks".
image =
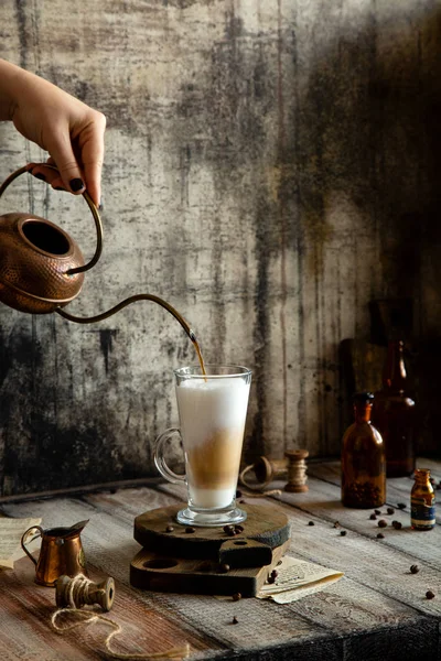
MULTIPOLYGON (((254 369, 247 456, 337 454, 338 343, 373 297, 437 332, 441 2, 2 0, 1 54, 103 110, 105 249, 73 314, 165 297, 205 358, 254 369), (423 256, 423 259, 421 258, 423 256)), ((0 126, 0 175, 44 154, 0 126)), ((2 199, 86 256, 82 199, 2 199)), ((191 344, 140 303, 97 326, 0 308, 3 494, 153 473, 191 344)))

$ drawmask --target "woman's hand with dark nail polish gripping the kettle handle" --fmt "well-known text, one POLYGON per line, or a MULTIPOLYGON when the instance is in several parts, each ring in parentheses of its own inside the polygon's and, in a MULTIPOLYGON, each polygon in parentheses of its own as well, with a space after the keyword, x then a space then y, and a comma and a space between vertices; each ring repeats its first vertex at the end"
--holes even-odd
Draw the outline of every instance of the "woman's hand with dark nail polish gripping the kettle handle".
POLYGON ((30 164, 33 175, 54 188, 87 189, 100 204, 106 118, 52 83, 0 59, 0 119, 12 120, 24 138, 50 153, 49 163, 30 164))

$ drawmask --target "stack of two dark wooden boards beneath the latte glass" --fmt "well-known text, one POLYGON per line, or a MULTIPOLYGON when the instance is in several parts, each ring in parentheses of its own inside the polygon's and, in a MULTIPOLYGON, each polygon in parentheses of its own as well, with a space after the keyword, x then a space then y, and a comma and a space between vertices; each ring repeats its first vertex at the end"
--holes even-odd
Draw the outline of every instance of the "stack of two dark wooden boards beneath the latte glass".
POLYGON ((220 527, 189 532, 175 520, 183 507, 160 508, 135 519, 133 537, 143 549, 130 564, 130 584, 158 592, 256 596, 289 546, 286 514, 244 505, 244 530, 230 537, 220 527))

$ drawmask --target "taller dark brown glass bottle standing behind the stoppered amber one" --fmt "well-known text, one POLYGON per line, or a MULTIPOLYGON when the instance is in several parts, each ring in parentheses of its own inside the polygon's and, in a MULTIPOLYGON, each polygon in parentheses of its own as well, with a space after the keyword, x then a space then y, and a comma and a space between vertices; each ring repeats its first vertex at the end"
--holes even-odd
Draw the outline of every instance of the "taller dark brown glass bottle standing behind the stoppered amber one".
POLYGON ((373 424, 386 448, 386 475, 402 477, 415 470, 415 401, 408 397, 404 342, 389 342, 383 388, 375 393, 373 424))

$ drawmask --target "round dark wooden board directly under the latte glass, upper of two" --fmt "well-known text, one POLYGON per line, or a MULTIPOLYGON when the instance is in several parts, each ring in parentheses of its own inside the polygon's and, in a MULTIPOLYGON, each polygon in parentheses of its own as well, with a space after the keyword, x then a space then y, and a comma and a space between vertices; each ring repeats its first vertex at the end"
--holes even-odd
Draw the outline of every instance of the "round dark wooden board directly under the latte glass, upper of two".
MULTIPOLYGON (((163 507, 139 514, 135 519, 133 537, 144 549, 176 555, 180 557, 217 559, 219 549, 232 540, 223 528, 194 528, 194 532, 186 532, 187 528, 176 523, 175 517, 185 503, 163 507), (172 527, 171 532, 166 528, 172 527)), ((239 540, 254 540, 276 549, 283 544, 290 537, 288 517, 280 510, 260 505, 241 505, 247 512, 247 519, 241 523, 244 531, 233 538, 239 540)))

